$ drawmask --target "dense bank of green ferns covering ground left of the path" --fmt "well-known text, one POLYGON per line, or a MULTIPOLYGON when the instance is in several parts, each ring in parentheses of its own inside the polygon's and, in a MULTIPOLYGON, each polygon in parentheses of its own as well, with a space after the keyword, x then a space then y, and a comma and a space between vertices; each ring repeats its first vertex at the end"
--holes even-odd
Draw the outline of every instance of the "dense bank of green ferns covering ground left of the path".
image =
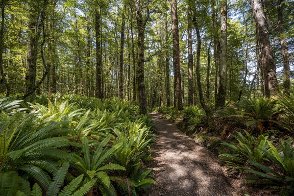
POLYGON ((140 195, 154 182, 143 169, 153 125, 137 105, 118 98, 0 99, 0 192, 140 195))

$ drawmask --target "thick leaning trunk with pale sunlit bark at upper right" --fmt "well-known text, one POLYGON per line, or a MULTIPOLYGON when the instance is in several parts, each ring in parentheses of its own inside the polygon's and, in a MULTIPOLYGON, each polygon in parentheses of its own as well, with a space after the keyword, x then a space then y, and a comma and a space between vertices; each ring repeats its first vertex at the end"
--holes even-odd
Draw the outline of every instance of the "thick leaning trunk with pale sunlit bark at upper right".
POLYGON ((259 47, 261 49, 261 65, 263 67, 265 81, 265 95, 267 97, 275 96, 279 93, 279 84, 262 0, 249 0, 249 2, 255 20, 259 47))

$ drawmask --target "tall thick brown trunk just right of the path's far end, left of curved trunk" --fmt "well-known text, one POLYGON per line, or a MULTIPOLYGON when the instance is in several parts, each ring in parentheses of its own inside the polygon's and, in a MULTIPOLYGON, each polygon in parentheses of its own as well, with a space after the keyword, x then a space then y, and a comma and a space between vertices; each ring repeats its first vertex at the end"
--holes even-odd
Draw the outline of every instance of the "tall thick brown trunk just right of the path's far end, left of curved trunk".
POLYGON ((173 89, 174 98, 173 106, 178 109, 183 109, 182 95, 181 95, 181 69, 180 69, 180 46, 179 46, 179 29, 177 18, 176 0, 171 0, 172 7, 172 53, 173 53, 173 89))

